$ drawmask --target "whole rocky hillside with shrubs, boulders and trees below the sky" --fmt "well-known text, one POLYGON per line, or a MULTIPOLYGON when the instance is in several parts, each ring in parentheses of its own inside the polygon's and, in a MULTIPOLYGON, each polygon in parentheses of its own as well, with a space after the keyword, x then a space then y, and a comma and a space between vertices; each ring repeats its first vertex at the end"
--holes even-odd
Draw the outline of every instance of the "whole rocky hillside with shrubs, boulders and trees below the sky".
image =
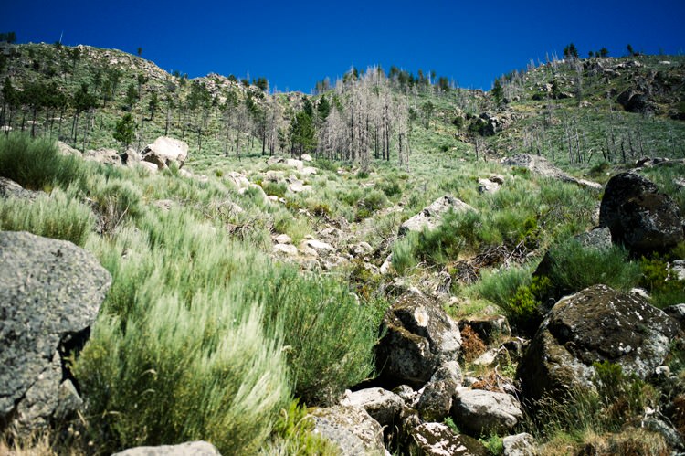
POLYGON ((305 95, 0 51, 0 452, 685 448, 685 58, 305 95))

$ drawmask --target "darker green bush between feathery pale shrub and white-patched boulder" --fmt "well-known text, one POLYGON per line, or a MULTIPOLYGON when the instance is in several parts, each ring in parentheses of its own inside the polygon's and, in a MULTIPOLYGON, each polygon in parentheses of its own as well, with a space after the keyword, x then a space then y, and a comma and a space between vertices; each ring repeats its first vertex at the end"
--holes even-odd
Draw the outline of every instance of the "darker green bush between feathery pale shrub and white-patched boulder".
POLYGON ((306 403, 331 404, 373 373, 374 311, 346 286, 283 267, 246 283, 243 294, 264 302, 268 321, 282 328, 294 391, 306 403))

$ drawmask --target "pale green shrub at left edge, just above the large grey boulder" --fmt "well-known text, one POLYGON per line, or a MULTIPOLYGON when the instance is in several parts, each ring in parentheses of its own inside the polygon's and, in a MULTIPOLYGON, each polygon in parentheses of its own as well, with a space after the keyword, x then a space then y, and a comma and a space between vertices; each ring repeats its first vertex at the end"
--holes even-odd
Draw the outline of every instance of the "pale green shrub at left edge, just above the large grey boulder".
POLYGON ((28 231, 46 238, 64 239, 83 246, 95 228, 90 207, 55 189, 36 201, 0 198, 0 229, 28 231))

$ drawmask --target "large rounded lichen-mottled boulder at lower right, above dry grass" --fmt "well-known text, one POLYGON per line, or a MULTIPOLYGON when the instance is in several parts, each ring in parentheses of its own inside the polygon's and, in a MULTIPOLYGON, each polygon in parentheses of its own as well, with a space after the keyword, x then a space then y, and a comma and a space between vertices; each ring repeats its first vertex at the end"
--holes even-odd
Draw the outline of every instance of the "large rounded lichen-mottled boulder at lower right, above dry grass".
POLYGON ((590 387, 595 362, 646 378, 669 353, 679 324, 641 296, 594 285, 554 304, 519 363, 524 398, 563 398, 590 387))

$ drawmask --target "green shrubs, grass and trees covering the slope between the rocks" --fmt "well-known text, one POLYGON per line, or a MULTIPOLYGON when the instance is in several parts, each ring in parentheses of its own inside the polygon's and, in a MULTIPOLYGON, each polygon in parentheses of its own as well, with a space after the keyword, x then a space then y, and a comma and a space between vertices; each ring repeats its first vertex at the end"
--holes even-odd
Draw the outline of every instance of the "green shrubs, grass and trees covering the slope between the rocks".
MULTIPOLYGON (((566 60, 507 75, 489 93, 393 67, 351 69, 304 96, 269 93, 265 79, 188 80, 119 51, 8 49, 0 74, 14 76, 4 77, 0 123, 25 134, 0 138, 0 175, 43 193, 31 202, 0 199, 0 229, 68 239, 113 278, 71 366, 88 401, 82 420, 71 423, 81 436, 56 433, 58 449, 82 444, 90 452, 91 441, 104 453, 205 439, 224 454, 329 454, 311 433, 307 407, 330 404, 374 376, 377 328, 395 288, 429 288, 438 273, 448 274, 448 294, 458 298, 449 312, 487 313, 494 304, 518 334, 534 331, 550 299, 595 283, 641 286, 659 307, 685 300, 682 281, 667 269, 685 258, 682 244, 649 258, 620 247, 583 249, 573 237, 596 224, 601 192, 496 160, 541 154, 604 182, 643 154, 681 157, 685 128, 671 115, 677 103, 623 111, 616 96, 627 81, 593 69, 636 59, 644 67, 630 67, 634 77, 648 68, 681 74, 680 57, 669 57, 669 67, 601 51, 582 60, 569 46, 566 60), (510 113, 511 124, 488 133, 479 120, 486 111, 510 113), (84 162, 54 144, 140 151, 163 134, 190 144, 185 168, 195 177, 174 166, 150 175, 84 162), (267 164, 272 154, 312 154, 317 174, 267 164), (232 171, 281 202, 254 188, 241 194, 232 171), (312 190, 290 192, 266 179, 268 171, 297 175, 312 190), (505 185, 479 193, 478 179, 493 174, 505 185), (397 238, 403 221, 446 194, 473 210, 397 238), (272 236, 298 244, 332 226, 372 251, 327 271, 271 255, 272 236), (553 264, 536 275, 547 250, 553 264), (392 269, 382 275, 377 267, 389 253, 392 269)), ((683 164, 641 173, 685 207, 676 183, 683 164)), ((677 360, 672 366, 682 370, 677 360)), ((597 376, 603 387, 542 404, 523 428, 547 454, 588 441, 660 454, 662 440, 628 426, 659 400, 659 387, 616 366, 597 366, 597 376)), ((498 436, 484 440, 501 451, 498 436)))

